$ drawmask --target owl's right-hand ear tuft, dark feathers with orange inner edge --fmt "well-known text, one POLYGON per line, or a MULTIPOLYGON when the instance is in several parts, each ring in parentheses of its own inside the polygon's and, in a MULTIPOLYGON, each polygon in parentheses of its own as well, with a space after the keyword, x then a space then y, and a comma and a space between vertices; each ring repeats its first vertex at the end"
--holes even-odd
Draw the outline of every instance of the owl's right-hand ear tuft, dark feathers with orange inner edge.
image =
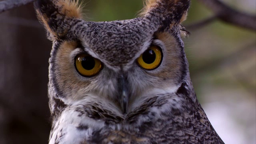
POLYGON ((168 30, 186 20, 190 0, 146 0, 139 16, 148 19, 158 18, 160 30, 168 30))

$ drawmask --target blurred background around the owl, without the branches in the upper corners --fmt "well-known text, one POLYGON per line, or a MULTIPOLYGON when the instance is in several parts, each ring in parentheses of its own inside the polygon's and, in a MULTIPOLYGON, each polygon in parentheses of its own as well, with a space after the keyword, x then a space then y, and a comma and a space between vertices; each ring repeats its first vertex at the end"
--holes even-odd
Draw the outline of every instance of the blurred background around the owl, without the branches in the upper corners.
MULTIPOLYGON (((256 14, 255 0, 222 1, 256 14)), ((142 0, 84 0, 83 4, 87 21, 131 19, 143 7, 142 0)), ((184 39, 191 79, 223 141, 255 144, 256 32, 219 20, 191 28, 213 15, 192 0, 184 22, 191 33, 184 39)), ((45 144, 50 132, 47 75, 51 42, 46 40, 32 4, 0 13, 0 40, 0 143, 40 140, 45 144)))

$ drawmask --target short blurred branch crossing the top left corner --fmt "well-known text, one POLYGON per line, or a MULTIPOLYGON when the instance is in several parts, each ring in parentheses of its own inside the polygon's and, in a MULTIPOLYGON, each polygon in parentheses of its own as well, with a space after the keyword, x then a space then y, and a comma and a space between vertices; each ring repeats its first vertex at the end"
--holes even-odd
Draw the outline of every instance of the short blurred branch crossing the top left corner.
POLYGON ((18 6, 23 6, 35 0, 4 0, 0 2, 0 13, 18 6))

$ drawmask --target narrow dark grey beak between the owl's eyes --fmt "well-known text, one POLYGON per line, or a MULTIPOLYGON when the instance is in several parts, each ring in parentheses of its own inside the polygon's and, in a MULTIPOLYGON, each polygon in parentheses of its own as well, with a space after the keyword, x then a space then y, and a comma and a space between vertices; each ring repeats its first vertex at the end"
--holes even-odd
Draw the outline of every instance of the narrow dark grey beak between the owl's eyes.
POLYGON ((118 100, 124 114, 127 112, 129 97, 127 77, 121 74, 118 78, 118 100))

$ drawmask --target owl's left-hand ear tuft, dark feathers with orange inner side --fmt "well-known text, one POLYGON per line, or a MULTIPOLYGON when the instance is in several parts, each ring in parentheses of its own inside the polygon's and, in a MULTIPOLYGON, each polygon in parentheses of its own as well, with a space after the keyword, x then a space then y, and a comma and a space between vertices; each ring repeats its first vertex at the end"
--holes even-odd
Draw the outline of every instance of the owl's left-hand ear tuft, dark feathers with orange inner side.
POLYGON ((44 24, 50 40, 65 36, 70 28, 68 21, 82 18, 78 0, 37 0, 34 2, 38 20, 44 24))

